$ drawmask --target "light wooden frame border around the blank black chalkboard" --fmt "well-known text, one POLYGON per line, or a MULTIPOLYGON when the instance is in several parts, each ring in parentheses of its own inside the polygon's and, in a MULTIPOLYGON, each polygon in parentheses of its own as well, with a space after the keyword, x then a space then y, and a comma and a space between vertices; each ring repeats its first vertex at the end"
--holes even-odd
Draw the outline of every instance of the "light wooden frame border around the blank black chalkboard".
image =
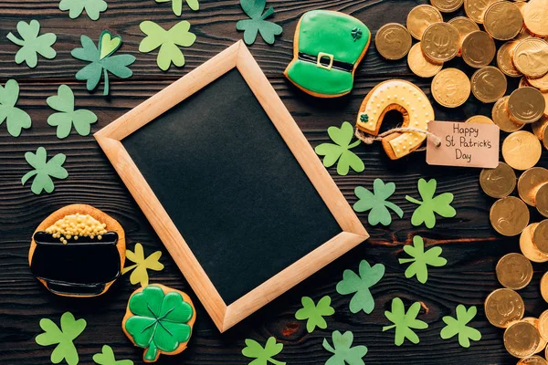
POLYGON ((113 121, 95 133, 95 138, 221 332, 369 237, 248 47, 241 41, 113 121), (237 68, 246 80, 342 232, 227 306, 121 141, 232 68, 237 68))

